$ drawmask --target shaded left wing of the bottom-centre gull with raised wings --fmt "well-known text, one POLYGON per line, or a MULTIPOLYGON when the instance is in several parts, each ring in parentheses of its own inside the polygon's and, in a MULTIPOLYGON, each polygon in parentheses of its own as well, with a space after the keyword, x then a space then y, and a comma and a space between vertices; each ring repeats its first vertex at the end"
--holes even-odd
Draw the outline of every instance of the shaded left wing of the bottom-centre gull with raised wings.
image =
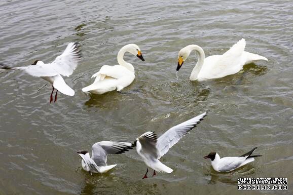
POLYGON ((156 147, 158 136, 152 131, 145 132, 141 136, 138 137, 138 141, 141 144, 141 153, 147 159, 157 159, 159 155, 159 151, 156 147))

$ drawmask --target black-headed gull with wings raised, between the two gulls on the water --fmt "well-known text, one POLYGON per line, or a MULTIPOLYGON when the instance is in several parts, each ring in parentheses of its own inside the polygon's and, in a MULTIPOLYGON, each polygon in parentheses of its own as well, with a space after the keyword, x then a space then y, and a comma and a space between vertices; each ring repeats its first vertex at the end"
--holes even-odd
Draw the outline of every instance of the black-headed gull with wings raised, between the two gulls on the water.
MULTIPOLYGON (((153 176, 156 175, 156 171, 171 173, 173 170, 159 161, 161 157, 168 150, 176 144, 183 136, 189 133, 196 125, 203 120, 206 112, 192 118, 186 122, 176 125, 166 131, 159 138, 157 134, 152 131, 146 132, 136 138, 133 145, 136 146, 136 151, 142 157, 146 166, 154 170, 153 176)), ((146 169, 146 173, 143 178, 147 178, 149 169, 146 169)))

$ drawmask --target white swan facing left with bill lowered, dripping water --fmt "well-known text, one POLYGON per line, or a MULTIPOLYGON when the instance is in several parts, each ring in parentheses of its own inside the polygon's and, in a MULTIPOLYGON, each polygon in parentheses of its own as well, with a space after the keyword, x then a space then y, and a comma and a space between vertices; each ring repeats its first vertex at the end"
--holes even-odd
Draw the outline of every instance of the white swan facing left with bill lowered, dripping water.
POLYGON ((208 79, 221 78, 230 74, 239 72, 243 65, 249 64, 255 60, 267 60, 267 58, 258 54, 245 52, 246 42, 244 38, 232 46, 223 55, 214 55, 205 58, 204 51, 197 45, 189 45, 182 48, 178 54, 177 71, 182 66, 183 62, 188 58, 190 53, 195 50, 198 54, 198 61, 193 68, 190 80, 205 81, 208 79))

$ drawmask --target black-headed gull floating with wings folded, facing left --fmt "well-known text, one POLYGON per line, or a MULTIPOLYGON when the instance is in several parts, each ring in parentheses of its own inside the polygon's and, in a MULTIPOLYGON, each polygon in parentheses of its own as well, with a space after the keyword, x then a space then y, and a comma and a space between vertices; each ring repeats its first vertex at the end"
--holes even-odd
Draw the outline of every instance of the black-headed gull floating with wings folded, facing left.
POLYGON ((230 172, 247 163, 251 163, 254 161, 254 157, 261 157, 262 155, 251 155, 255 149, 253 148, 249 152, 241 155, 240 157, 224 157, 220 158, 216 152, 210 152, 208 155, 204 157, 204 159, 211 160, 212 168, 217 172, 230 172))

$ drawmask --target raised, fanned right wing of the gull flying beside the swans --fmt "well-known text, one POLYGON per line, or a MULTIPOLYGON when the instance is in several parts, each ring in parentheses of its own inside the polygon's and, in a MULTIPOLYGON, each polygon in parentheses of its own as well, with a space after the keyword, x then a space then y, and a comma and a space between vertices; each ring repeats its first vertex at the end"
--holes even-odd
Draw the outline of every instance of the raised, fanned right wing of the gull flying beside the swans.
POLYGON ((69 43, 64 52, 57 56, 50 66, 59 74, 69 76, 73 73, 81 58, 80 50, 77 43, 69 43))

